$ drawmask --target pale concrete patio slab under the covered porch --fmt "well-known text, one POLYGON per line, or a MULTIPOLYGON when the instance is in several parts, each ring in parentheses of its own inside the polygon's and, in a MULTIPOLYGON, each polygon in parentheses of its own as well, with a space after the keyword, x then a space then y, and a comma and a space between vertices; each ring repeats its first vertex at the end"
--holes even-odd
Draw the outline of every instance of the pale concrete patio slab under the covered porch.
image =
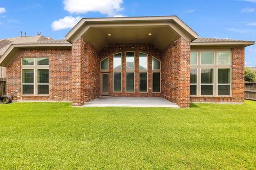
POLYGON ((162 97, 110 97, 100 96, 82 107, 172 107, 179 108, 176 103, 162 97))

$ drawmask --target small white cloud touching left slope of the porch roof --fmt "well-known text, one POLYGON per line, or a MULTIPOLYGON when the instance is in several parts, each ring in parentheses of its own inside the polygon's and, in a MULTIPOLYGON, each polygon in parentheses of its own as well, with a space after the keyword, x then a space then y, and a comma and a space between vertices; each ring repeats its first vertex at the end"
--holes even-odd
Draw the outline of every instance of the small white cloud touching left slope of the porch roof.
POLYGON ((65 16, 62 19, 52 22, 52 30, 58 31, 62 29, 73 28, 81 19, 82 18, 80 16, 77 16, 76 18, 73 16, 65 16))

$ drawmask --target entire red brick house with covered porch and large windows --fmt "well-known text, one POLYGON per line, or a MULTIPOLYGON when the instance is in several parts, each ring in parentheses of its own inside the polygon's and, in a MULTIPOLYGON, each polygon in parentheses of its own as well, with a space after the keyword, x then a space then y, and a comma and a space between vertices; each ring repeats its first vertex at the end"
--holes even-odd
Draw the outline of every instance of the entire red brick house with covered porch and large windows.
POLYGON ((14 100, 164 97, 244 101, 244 48, 254 41, 198 38, 177 16, 89 18, 65 40, 12 44, 0 58, 14 100))

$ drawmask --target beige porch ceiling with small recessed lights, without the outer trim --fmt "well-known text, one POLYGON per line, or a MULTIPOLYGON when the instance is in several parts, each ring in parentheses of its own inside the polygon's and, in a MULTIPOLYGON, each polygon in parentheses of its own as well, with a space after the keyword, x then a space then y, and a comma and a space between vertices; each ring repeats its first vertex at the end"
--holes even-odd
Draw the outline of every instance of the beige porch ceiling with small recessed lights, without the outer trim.
POLYGON ((83 35, 84 41, 92 44, 98 51, 108 43, 153 43, 159 50, 164 50, 178 37, 179 34, 169 25, 92 27, 83 35))

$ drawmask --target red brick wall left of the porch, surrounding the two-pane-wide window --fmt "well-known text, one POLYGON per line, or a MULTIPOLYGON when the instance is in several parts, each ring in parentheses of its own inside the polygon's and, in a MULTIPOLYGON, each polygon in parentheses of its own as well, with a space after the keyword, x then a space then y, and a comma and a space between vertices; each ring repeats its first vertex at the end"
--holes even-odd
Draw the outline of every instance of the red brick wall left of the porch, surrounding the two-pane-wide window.
POLYGON ((71 50, 70 49, 23 49, 7 66, 7 94, 15 92, 14 100, 70 100, 71 94, 71 50), (49 96, 21 95, 21 58, 49 57, 49 96))

